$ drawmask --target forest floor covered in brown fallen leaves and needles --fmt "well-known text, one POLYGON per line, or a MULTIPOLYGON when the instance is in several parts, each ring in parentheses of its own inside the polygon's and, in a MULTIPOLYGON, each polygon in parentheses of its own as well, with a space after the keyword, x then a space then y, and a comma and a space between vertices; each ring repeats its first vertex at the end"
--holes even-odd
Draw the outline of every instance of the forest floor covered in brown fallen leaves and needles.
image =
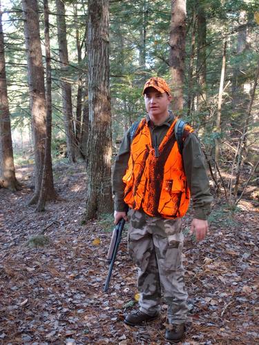
MULTIPOLYGON (((26 206, 32 166, 17 168, 21 191, 0 189, 0 344, 167 344, 165 304, 152 323, 123 323, 124 314, 137 308, 137 270, 127 254, 126 232, 103 292, 113 218, 81 221, 84 164, 57 164, 54 171, 64 200, 48 203, 44 213, 26 206), (39 235, 49 242, 35 247, 39 235)), ((185 217, 190 313, 182 344, 259 343, 256 211, 252 200, 234 213, 215 205, 210 235, 200 243, 188 235, 191 212, 185 217)))

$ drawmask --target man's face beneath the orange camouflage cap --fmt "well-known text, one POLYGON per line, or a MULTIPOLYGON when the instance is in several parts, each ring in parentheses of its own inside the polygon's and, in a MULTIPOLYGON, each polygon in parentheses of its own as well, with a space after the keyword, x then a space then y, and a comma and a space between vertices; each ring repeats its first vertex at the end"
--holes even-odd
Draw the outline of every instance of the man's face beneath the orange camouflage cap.
POLYGON ((155 88, 147 88, 144 94, 146 111, 151 119, 160 120, 168 115, 171 96, 166 92, 160 93, 155 88))

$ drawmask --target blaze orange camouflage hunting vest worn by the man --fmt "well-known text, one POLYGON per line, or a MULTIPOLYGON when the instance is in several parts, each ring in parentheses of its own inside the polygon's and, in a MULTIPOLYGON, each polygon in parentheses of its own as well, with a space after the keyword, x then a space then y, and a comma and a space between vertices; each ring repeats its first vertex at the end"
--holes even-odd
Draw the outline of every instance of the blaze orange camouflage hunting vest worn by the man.
MULTIPOLYGON (((123 177, 124 201, 135 210, 142 208, 150 216, 175 219, 183 217, 189 207, 190 191, 174 132, 177 120, 158 148, 159 157, 155 157, 146 119, 140 121, 131 143, 128 168, 123 177)), ((189 132, 193 132, 193 128, 186 125, 184 137, 189 132)))

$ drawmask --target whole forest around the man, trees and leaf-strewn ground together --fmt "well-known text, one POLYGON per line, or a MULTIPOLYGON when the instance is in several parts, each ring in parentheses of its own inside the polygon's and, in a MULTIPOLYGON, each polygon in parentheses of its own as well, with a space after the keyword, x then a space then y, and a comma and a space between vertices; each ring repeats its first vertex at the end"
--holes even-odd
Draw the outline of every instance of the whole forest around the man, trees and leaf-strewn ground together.
POLYGON ((123 324, 126 231, 103 292, 113 164, 150 77, 198 134, 213 195, 203 242, 184 217, 182 344, 258 344, 258 53, 256 0, 0 0, 1 344, 166 344, 165 316, 123 324))

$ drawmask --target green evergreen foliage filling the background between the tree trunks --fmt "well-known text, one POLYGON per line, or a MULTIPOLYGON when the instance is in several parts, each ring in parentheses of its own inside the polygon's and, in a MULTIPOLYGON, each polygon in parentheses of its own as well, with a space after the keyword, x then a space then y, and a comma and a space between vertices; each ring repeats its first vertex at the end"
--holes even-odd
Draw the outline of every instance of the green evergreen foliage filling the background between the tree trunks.
MULTIPOLYGON (((65 1, 69 66, 64 75, 59 66, 55 1, 50 1, 49 6, 54 142, 52 148, 57 150, 55 139, 59 143, 66 141, 61 106, 62 78, 66 78, 72 86, 74 119, 78 106, 77 89, 79 85, 83 87, 82 121, 84 110, 87 112, 88 63, 86 55, 88 43, 86 32, 88 8, 86 1, 65 1), (77 32, 81 59, 78 58, 77 32)), ((39 8, 42 43, 44 44, 44 17, 41 1, 39 1, 39 8)), ((238 139, 244 126, 244 117, 251 99, 258 61, 259 26, 254 17, 257 10, 258 3, 254 0, 187 1, 183 116, 185 115, 184 117, 200 132, 207 153, 213 155, 215 139, 220 138, 224 143, 221 146, 222 162, 234 159, 238 139), (206 21, 206 37, 204 37, 206 45, 202 47, 198 44, 197 18, 199 11, 202 11, 204 21, 206 21), (194 32, 193 52, 191 50, 192 32, 194 32), (244 47, 241 49, 239 45, 242 34, 244 47), (227 71, 224 79, 221 131, 216 132, 215 118, 224 39, 227 39, 227 71), (205 60, 199 61, 199 54, 202 50, 205 60), (193 74, 190 76, 191 63, 193 63, 193 74), (200 63, 206 63, 206 83, 204 84, 199 81, 200 63), (191 90, 189 89, 190 78, 191 90), (191 95, 191 109, 188 108, 189 95, 191 95), (200 95, 206 95, 206 102, 201 105, 199 103, 200 95), (239 99, 238 103, 237 99, 239 99), (232 146, 231 149, 230 146, 232 146)), ((25 130, 30 135, 26 47, 20 1, 3 1, 3 12, 10 115, 12 130, 16 130, 16 136, 19 137, 19 133, 25 133, 25 130)), ((145 114, 142 100, 144 81, 151 76, 160 76, 170 82, 170 20, 171 1, 169 0, 110 1, 110 75, 114 155, 117 152, 116 144, 122 139, 124 132, 133 121, 145 114), (144 64, 143 61, 145 61, 144 64)), ((257 157, 253 152, 253 144, 258 134, 256 130, 256 126, 258 126, 257 112, 258 89, 247 125, 248 153, 246 157, 248 157, 248 161, 251 159, 250 164, 256 164, 257 157), (249 148, 251 148, 251 155, 249 148)), ((23 136, 25 136, 24 133, 23 136)), ((23 139, 21 137, 15 139, 15 147, 18 145, 22 150, 28 147, 28 142, 22 147, 17 144, 19 140, 23 139)))

